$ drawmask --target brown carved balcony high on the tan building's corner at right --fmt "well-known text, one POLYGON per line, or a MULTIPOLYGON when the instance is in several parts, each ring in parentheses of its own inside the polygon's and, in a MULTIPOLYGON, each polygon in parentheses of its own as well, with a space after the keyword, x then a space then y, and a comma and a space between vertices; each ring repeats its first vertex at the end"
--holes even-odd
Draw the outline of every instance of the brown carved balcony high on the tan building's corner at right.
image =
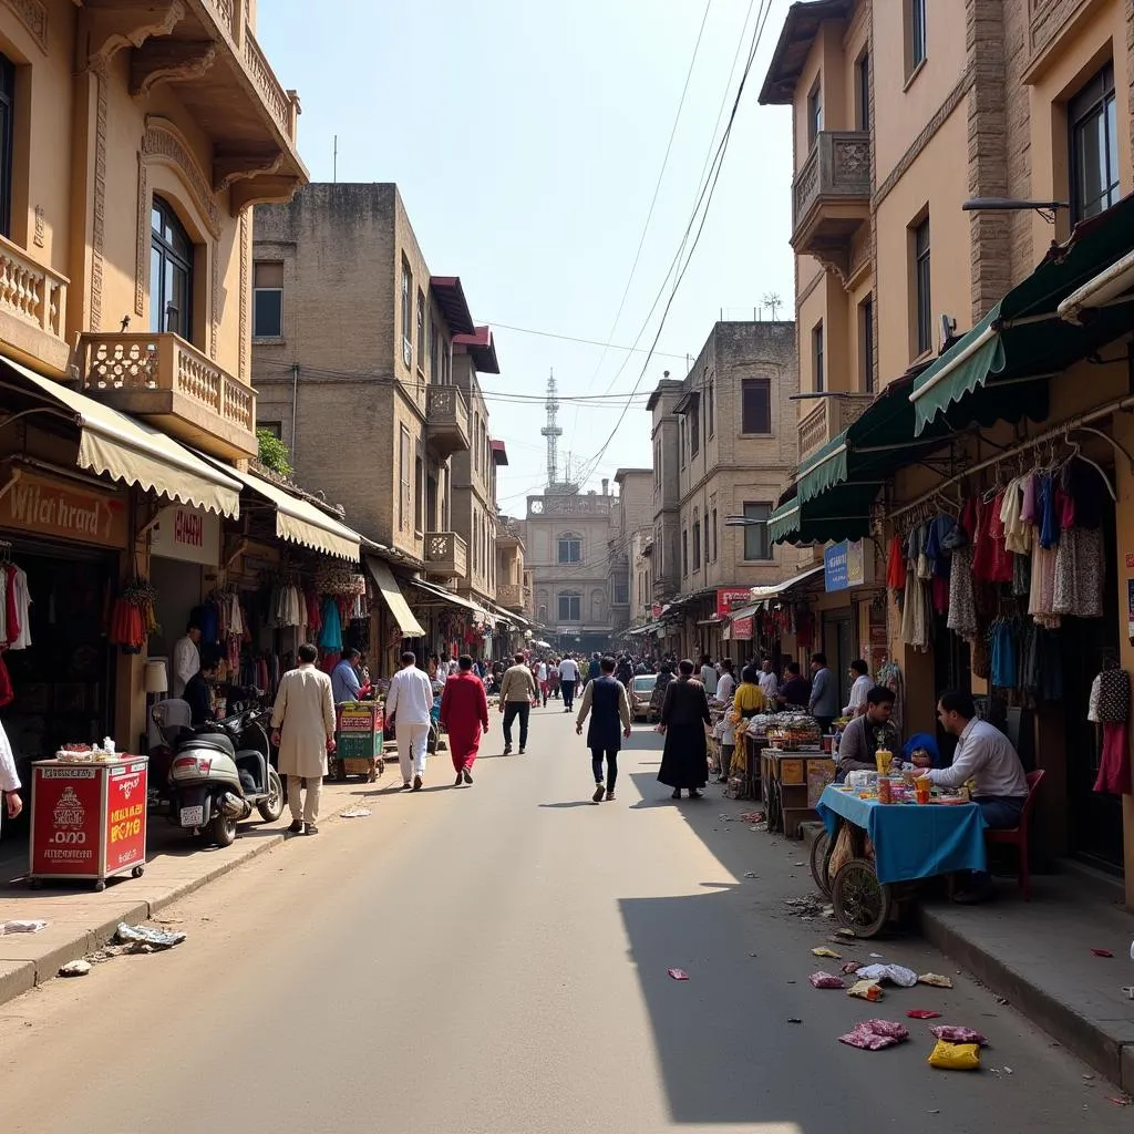
POLYGON ((847 279, 850 242, 870 221, 870 134, 820 130, 792 185, 792 247, 847 279))

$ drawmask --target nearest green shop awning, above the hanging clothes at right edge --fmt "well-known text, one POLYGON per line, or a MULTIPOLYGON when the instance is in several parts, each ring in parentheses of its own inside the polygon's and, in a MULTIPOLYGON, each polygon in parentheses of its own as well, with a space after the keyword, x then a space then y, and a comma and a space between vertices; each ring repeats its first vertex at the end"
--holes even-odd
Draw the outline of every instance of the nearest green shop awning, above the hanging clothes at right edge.
MULTIPOLYGON (((909 393, 914 432, 921 434, 954 405, 965 424, 1047 417, 1048 379, 1129 330, 1129 307, 1116 303, 1117 295, 1098 307, 1080 302, 1068 310, 1065 301, 1088 293, 1092 284, 1122 286, 1122 271, 1114 280, 1108 271, 1132 251, 1134 197, 1077 225, 1066 244, 1053 246, 1027 279, 917 378, 909 393)), ((956 414, 950 416, 957 423, 956 414)))

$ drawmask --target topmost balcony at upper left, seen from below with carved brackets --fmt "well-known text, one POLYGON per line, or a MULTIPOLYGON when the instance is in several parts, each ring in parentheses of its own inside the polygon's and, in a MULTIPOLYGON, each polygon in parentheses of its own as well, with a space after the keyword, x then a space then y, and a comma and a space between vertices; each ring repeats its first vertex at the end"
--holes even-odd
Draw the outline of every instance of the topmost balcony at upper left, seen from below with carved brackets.
POLYGON ((211 188, 230 189, 237 215, 287 201, 308 180, 296 146, 299 99, 256 42, 247 0, 85 0, 92 65, 129 52, 129 87, 146 95, 176 83, 178 100, 212 143, 211 188))

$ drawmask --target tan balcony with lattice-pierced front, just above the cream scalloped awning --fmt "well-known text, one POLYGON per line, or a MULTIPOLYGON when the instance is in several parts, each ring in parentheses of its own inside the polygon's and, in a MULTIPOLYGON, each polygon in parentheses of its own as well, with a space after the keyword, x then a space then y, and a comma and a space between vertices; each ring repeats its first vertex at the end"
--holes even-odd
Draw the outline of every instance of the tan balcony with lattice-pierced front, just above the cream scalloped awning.
POLYGON ((256 454, 256 395, 176 335, 84 335, 83 389, 215 457, 256 454))

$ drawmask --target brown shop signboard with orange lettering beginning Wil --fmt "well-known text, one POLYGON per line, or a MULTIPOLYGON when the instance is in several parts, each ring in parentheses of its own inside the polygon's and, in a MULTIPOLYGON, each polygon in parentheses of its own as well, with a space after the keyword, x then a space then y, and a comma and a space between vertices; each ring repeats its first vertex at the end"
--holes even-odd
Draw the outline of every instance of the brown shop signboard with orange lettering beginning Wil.
POLYGON ((78 481, 15 469, 11 486, 0 498, 0 527, 35 535, 126 547, 126 494, 78 481))

